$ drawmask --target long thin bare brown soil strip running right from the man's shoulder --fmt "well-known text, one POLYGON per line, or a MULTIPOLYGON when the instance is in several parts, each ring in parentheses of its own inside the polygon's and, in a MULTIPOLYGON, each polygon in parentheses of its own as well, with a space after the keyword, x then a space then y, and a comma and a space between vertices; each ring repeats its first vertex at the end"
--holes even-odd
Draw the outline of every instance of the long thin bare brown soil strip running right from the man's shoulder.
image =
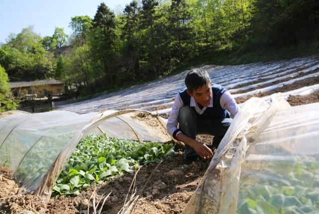
POLYGON ((319 77, 312 77, 312 78, 307 78, 301 81, 297 81, 294 82, 290 85, 283 85, 282 87, 277 88, 274 91, 270 91, 270 92, 263 92, 263 93, 258 93, 258 94, 254 94, 254 95, 249 95, 247 97, 239 97, 236 98, 236 102, 237 103, 243 103, 245 101, 247 101, 249 98, 251 97, 265 97, 274 93, 279 93, 279 92, 287 92, 287 91, 292 91, 298 88, 302 88, 305 86, 310 86, 310 85, 315 85, 319 83, 319 77))

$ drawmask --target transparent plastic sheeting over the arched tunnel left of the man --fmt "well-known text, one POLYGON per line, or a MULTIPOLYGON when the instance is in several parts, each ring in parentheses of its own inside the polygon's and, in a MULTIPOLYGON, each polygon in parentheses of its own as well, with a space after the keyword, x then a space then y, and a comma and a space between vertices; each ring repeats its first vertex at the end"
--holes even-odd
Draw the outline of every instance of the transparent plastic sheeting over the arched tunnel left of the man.
MULTIPOLYGON (((165 134, 155 135, 152 129, 158 127, 135 120, 132 116, 137 112, 140 111, 82 115, 67 111, 36 114, 11 111, 0 114, 0 165, 8 166, 28 192, 49 196, 65 162, 87 134, 106 133, 110 137, 156 142, 170 140, 165 134)), ((154 120, 164 127, 161 118, 154 120)))

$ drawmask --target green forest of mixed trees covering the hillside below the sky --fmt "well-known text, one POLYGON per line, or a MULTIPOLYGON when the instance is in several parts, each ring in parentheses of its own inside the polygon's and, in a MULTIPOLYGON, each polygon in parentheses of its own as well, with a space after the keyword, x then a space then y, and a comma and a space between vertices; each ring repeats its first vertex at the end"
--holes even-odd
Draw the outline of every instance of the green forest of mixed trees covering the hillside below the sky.
POLYGON ((133 0, 114 14, 70 17, 41 37, 32 26, 0 44, 10 81, 55 78, 82 94, 149 81, 223 52, 319 41, 318 0, 133 0))

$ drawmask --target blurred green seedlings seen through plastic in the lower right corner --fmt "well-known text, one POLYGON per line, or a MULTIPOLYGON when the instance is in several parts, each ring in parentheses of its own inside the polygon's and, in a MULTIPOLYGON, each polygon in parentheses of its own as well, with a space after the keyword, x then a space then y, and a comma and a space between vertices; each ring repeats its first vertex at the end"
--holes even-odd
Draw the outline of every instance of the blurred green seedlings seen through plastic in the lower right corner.
POLYGON ((247 170, 240 183, 237 213, 318 214, 318 160, 274 161, 263 163, 258 173, 247 170))

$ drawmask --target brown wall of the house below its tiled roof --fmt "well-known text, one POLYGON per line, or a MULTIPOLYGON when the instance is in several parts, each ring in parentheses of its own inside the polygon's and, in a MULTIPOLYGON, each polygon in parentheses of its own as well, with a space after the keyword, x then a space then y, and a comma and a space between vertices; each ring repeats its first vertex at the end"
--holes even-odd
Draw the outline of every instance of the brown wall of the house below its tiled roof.
POLYGON ((37 85, 31 87, 21 87, 12 89, 12 94, 23 97, 25 94, 36 94, 38 97, 44 96, 45 91, 51 91, 53 95, 64 93, 63 84, 37 85))

